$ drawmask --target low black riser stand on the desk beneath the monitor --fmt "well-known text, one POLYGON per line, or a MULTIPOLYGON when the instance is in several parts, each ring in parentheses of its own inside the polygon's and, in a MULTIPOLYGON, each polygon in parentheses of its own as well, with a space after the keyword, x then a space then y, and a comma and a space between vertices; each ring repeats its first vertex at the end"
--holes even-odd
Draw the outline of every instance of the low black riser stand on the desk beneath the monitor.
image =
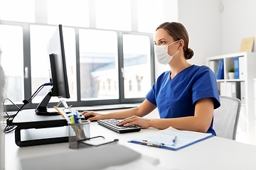
POLYGON ((19 147, 68 142, 68 123, 61 115, 36 115, 34 109, 28 109, 13 123, 17 125, 15 142, 19 147))

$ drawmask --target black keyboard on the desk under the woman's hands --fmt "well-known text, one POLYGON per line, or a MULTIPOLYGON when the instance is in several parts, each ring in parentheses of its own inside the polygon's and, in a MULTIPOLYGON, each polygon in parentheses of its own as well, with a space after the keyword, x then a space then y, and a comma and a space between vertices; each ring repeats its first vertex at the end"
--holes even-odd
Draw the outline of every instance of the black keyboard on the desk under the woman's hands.
POLYGON ((104 120, 97 120, 99 125, 104 126, 105 128, 109 128, 110 130, 114 130, 114 132, 119 133, 126 133, 126 132, 139 132, 140 128, 137 126, 118 126, 119 120, 116 119, 104 119, 104 120))

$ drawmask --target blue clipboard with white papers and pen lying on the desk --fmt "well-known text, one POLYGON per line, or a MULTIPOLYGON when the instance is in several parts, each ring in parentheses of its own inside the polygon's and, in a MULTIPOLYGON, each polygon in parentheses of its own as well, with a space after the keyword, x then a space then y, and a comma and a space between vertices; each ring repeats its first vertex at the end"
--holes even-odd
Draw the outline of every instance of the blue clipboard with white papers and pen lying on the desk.
POLYGON ((162 149, 178 150, 188 147, 202 140, 213 137, 211 133, 192 132, 187 130, 176 130, 172 127, 166 130, 155 132, 152 135, 140 137, 139 139, 130 140, 139 145, 147 145, 150 147, 159 147, 162 149), (174 139, 175 143, 174 143, 174 139))

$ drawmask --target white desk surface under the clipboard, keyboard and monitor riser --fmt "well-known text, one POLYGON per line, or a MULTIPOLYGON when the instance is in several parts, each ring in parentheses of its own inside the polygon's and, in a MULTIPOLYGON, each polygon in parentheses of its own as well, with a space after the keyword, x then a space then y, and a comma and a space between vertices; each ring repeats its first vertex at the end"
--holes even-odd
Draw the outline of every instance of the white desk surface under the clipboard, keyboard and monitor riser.
MULTIPOLYGON (((102 135, 119 139, 119 144, 134 149, 137 152, 159 159, 158 166, 165 169, 256 169, 256 146, 246 145, 220 137, 211 137, 195 145, 178 151, 159 149, 127 142, 142 135, 157 132, 156 129, 142 129, 140 132, 119 134, 112 130, 90 123, 91 137, 102 135)), ((18 147, 14 142, 14 132, 6 134, 6 170, 18 169, 20 158, 37 155, 74 152, 68 148, 68 143, 41 145, 33 147, 18 147)), ((87 153, 85 153, 87 154, 87 153)))

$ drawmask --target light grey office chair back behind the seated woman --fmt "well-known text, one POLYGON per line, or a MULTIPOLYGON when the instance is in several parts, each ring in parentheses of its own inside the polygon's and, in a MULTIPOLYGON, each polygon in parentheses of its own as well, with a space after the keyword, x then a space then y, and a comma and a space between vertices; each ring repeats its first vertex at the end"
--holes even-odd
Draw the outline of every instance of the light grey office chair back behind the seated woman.
POLYGON ((213 129, 218 137, 235 140, 240 108, 238 98, 220 96, 220 107, 213 111, 213 129))

